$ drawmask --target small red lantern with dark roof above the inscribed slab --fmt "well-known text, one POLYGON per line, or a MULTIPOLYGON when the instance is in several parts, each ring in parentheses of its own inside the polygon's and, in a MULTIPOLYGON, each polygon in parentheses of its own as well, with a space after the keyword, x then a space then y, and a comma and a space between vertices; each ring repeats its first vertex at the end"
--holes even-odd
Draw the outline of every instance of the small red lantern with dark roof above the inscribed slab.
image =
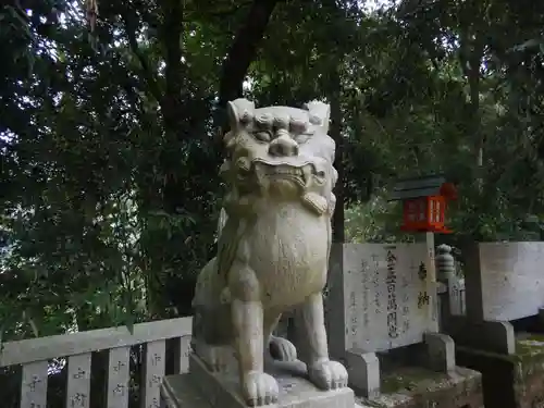
POLYGON ((392 200, 403 201, 403 231, 452 233, 445 224, 448 200, 456 199, 453 184, 443 177, 420 177, 397 183, 392 200))

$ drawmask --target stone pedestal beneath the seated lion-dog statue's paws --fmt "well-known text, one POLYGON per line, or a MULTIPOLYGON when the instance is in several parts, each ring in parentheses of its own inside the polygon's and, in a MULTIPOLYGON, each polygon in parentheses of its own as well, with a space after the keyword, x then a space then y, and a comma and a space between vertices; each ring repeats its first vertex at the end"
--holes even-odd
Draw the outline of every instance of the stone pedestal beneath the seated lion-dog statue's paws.
MULTIPOLYGON (((276 404, 265 408, 354 408, 350 388, 324 392, 306 379, 306 366, 300 361, 275 362, 267 372, 280 385, 276 404)), ((164 378, 161 395, 168 408, 245 408, 239 394, 237 373, 210 372, 195 355, 189 356, 189 373, 164 378)))

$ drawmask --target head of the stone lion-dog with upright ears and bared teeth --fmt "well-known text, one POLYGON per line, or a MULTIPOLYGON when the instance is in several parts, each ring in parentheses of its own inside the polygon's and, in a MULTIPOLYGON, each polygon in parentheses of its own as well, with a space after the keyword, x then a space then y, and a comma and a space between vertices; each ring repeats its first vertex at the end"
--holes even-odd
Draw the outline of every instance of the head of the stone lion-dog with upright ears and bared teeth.
POLYGON ((327 104, 312 101, 306 109, 256 109, 251 101, 236 99, 227 110, 231 132, 224 137, 226 160, 221 173, 231 200, 296 200, 308 194, 331 200, 337 173, 335 144, 326 134, 327 104))

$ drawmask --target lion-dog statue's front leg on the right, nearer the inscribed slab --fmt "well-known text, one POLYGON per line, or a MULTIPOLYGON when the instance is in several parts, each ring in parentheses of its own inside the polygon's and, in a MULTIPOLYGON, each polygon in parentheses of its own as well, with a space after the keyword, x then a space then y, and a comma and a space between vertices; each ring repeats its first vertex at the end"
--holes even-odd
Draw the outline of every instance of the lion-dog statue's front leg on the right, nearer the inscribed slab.
POLYGON ((302 360, 308 367, 310 381, 322 390, 347 386, 347 371, 344 366, 329 359, 321 292, 308 297, 297 313, 297 319, 307 351, 302 360))

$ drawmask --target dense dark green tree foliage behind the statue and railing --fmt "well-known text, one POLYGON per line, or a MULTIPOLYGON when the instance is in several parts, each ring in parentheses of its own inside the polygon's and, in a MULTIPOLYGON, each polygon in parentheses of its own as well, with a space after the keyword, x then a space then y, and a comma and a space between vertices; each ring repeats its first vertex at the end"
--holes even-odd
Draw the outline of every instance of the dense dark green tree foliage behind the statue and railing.
MULTIPOLYGON (((91 34, 65 1, 0 9, 2 338, 190 313, 223 193, 217 100, 242 85, 224 61, 257 2, 180 4, 99 1, 91 34)), ((346 239, 412 239, 387 190, 429 173, 458 185, 454 238, 540 239, 542 5, 359 5, 277 2, 243 67, 258 104, 339 112, 346 239)))

